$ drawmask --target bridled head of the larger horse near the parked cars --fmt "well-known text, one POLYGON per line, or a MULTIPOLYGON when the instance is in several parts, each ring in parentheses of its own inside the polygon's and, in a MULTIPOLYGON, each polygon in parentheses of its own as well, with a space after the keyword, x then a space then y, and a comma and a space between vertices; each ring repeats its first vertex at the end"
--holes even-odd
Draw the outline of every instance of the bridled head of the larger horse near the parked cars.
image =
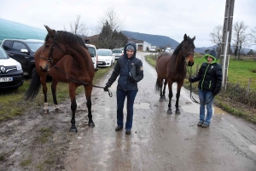
POLYGON ((58 31, 52 30, 49 26, 45 26, 48 34, 44 40, 44 46, 40 49, 40 68, 43 71, 49 71, 58 60, 67 54, 67 48, 63 43, 57 42, 58 31))

